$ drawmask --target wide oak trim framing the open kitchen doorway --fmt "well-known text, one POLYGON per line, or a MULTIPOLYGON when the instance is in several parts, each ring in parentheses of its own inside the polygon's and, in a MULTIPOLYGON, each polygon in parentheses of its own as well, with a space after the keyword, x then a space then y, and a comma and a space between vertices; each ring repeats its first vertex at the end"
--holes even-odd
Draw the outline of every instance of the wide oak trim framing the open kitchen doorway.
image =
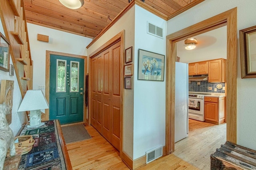
POLYGON ((166 36, 165 154, 174 152, 176 42, 224 25, 227 25, 227 141, 236 143, 237 8, 233 8, 166 36))

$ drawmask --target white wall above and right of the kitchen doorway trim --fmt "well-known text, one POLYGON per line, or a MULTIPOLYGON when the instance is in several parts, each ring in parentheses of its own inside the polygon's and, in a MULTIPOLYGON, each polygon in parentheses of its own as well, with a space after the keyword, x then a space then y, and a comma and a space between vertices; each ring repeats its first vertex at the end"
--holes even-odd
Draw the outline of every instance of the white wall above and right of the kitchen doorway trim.
POLYGON ((168 20, 167 35, 237 7, 238 78, 237 143, 256 150, 256 78, 241 79, 239 30, 256 25, 255 0, 205 0, 190 10, 168 20))

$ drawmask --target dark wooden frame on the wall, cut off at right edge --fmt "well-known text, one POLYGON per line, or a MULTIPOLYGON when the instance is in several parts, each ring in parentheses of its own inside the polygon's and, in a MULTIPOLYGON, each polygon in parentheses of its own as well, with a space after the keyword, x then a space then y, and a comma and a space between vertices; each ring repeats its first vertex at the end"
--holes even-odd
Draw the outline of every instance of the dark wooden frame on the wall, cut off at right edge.
POLYGON ((256 25, 239 34, 242 78, 256 78, 256 25))

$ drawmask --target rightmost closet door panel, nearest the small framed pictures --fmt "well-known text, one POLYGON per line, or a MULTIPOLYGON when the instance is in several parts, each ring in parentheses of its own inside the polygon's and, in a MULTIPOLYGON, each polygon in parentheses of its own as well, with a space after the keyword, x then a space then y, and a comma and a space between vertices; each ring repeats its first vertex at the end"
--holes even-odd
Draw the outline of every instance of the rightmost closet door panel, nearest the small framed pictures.
POLYGON ((120 80, 120 41, 112 46, 110 49, 110 54, 112 56, 111 63, 112 67, 110 74, 111 81, 111 113, 112 113, 112 132, 111 132, 111 144, 120 149, 120 104, 121 104, 121 81, 120 80))

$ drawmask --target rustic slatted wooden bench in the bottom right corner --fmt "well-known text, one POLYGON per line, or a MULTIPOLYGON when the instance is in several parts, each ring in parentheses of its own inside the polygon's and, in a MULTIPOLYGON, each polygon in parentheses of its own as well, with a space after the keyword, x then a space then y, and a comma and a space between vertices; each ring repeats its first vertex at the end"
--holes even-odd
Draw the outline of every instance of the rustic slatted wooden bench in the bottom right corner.
POLYGON ((256 151, 228 141, 210 157, 211 170, 256 169, 256 151))

